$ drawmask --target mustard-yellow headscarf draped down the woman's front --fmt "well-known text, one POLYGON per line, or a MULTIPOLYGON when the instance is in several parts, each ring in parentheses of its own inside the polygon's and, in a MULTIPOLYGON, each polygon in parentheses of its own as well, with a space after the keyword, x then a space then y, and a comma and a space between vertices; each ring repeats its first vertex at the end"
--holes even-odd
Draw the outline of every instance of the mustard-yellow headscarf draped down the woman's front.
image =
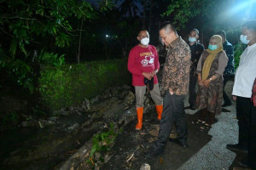
POLYGON ((210 50, 209 48, 207 48, 207 52, 209 53, 209 55, 207 56, 207 59, 203 65, 202 80, 207 80, 207 77, 209 76, 209 71, 211 69, 212 61, 215 59, 216 55, 219 52, 223 51, 222 38, 218 35, 213 35, 210 39, 210 42, 212 41, 212 38, 216 40, 216 45, 218 45, 218 48, 215 50, 210 50))

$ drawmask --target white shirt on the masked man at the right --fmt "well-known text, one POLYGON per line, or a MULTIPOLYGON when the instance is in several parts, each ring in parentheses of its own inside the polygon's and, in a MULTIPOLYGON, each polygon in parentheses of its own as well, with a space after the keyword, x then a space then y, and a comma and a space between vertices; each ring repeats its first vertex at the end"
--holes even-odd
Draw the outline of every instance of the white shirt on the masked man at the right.
POLYGON ((233 95, 251 98, 253 82, 256 77, 256 43, 248 46, 241 54, 239 66, 236 69, 233 95))

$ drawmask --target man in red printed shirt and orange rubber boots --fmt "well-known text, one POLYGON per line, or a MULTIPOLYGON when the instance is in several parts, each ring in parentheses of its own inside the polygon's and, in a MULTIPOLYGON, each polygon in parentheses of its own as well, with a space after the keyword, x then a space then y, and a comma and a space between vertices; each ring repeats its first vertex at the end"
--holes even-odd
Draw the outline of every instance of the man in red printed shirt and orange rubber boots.
POLYGON ((156 73, 160 69, 159 58, 156 48, 148 44, 148 31, 140 31, 137 40, 140 43, 134 48, 131 48, 128 59, 128 70, 132 74, 132 85, 135 87, 136 93, 136 129, 141 130, 143 127, 143 98, 147 88, 145 81, 152 82, 152 87, 149 87, 149 90, 154 100, 159 120, 163 111, 163 99, 160 96, 159 84, 156 77, 156 73))

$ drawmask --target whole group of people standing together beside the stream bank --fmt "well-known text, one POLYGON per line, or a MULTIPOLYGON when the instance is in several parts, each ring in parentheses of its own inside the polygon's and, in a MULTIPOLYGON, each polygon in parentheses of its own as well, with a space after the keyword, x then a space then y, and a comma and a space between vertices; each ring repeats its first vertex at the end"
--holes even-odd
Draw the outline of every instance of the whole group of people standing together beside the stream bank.
MULTIPOLYGON (((160 120, 158 138, 145 154, 146 157, 160 155, 168 140, 183 148, 188 147, 184 111, 184 97, 188 92, 190 109, 201 110, 196 121, 201 124, 201 129, 211 127, 215 115, 221 113, 222 107, 232 104, 224 86, 235 74, 234 49, 226 40, 225 31, 213 35, 206 50, 197 41, 197 29, 189 32, 189 42, 178 36, 169 21, 160 26, 159 33, 167 50, 161 86, 156 77, 160 70, 159 56, 156 48, 148 44, 148 31, 139 31, 139 44, 131 48, 128 59, 128 70, 131 71, 132 85, 136 92, 136 129, 141 130, 143 127, 143 98, 146 89, 154 100, 160 120), (177 129, 177 139, 169 139, 173 123, 177 129)), ((247 152, 248 156, 241 164, 256 167, 256 20, 249 20, 242 26, 240 39, 247 44, 247 48, 241 54, 232 93, 236 100, 239 142, 227 144, 227 148, 247 152)))

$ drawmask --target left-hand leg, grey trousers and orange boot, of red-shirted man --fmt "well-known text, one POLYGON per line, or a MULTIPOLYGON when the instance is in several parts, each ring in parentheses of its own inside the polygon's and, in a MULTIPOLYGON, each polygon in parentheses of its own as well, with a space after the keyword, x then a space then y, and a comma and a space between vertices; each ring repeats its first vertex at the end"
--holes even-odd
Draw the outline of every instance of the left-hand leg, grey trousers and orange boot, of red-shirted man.
POLYGON ((146 93, 146 86, 135 86, 136 109, 137 109, 137 125, 136 129, 140 130, 143 127, 143 99, 146 93))

